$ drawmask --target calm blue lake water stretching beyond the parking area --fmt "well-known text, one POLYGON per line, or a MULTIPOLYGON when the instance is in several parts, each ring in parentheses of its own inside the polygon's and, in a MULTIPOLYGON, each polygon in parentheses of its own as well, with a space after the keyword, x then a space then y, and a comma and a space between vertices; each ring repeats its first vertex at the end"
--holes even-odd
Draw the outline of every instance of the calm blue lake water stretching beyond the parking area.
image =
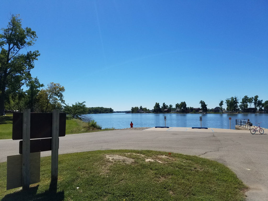
POLYGON ((164 116, 166 116, 166 126, 170 127, 200 127, 199 117, 202 116, 202 127, 229 129, 229 117, 231 129, 235 129, 236 119, 250 119, 253 125, 262 122, 263 128, 268 128, 268 114, 86 114, 95 120, 102 128, 129 128, 130 122, 133 127, 155 127, 165 126, 164 116))

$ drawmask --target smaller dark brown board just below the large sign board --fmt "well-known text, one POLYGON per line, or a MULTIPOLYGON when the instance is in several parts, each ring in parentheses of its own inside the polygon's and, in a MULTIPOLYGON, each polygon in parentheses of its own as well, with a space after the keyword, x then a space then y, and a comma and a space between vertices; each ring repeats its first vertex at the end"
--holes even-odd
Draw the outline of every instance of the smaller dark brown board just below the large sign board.
MULTIPOLYGON (((30 140, 30 153, 40 151, 51 151, 51 141, 52 138, 30 140)), ((19 154, 22 154, 22 143, 23 141, 21 140, 19 147, 19 154)))

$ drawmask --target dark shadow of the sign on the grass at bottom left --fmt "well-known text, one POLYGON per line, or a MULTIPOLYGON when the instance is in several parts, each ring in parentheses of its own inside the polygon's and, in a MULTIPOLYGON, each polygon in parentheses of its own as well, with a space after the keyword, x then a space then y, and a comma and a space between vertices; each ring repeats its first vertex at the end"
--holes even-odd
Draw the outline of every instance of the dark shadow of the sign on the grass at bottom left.
POLYGON ((64 200, 64 191, 45 191, 44 193, 37 193, 39 185, 35 187, 31 187, 28 190, 20 190, 16 191, 14 193, 10 193, 3 197, 1 201, 17 201, 17 200, 32 200, 32 201, 51 201, 51 200, 56 200, 56 201, 62 201, 64 200))

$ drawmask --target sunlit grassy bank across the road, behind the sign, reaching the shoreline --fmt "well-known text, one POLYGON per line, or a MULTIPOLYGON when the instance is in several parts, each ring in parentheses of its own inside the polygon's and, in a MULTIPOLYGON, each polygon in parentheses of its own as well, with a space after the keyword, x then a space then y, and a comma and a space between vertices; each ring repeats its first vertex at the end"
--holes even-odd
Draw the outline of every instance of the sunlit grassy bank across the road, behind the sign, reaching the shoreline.
MULTIPOLYGON (((0 140, 12 139, 12 118, 13 114, 6 114, 6 116, 0 116, 0 140)), ((66 120, 66 135, 105 130, 113 130, 113 128, 101 129, 101 127, 95 121, 86 123, 77 119, 66 120)))

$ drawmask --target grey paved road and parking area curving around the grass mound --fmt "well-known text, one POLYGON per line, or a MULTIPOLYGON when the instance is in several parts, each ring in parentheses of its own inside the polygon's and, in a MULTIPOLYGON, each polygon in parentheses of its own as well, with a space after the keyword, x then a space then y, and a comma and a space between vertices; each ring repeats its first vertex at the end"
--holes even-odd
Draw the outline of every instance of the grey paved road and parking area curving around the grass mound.
MULTIPOLYGON (((226 165, 249 187, 245 192, 245 200, 259 201, 266 200, 268 195, 267 142, 267 129, 263 135, 252 135, 250 131, 216 128, 129 128, 60 137, 59 154, 131 149, 163 151, 163 155, 180 153, 207 158, 226 165)), ((0 157, 1 162, 6 161, 7 155, 18 152, 15 148, 18 145, 14 140, 0 140, 0 146, 4 150, 0 157)), ((41 152, 41 157, 50 154, 50 151, 41 152)))

